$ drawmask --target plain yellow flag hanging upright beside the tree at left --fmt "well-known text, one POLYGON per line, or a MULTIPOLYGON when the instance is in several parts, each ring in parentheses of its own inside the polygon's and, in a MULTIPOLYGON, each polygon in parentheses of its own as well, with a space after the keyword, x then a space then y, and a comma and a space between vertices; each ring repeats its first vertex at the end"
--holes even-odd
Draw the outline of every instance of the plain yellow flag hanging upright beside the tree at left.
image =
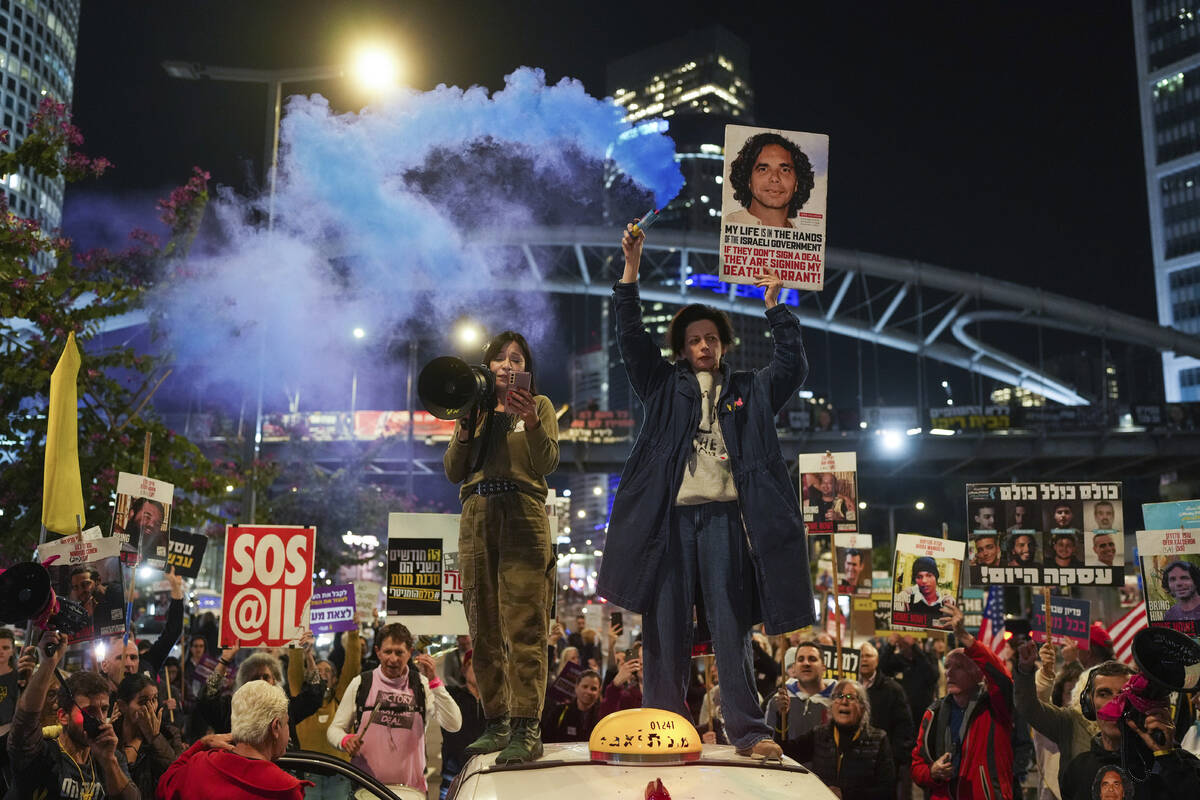
POLYGON ((42 480, 42 524, 55 534, 76 533, 83 519, 79 480, 79 348, 67 337, 59 365, 50 375, 50 410, 46 429, 46 473, 42 480))

